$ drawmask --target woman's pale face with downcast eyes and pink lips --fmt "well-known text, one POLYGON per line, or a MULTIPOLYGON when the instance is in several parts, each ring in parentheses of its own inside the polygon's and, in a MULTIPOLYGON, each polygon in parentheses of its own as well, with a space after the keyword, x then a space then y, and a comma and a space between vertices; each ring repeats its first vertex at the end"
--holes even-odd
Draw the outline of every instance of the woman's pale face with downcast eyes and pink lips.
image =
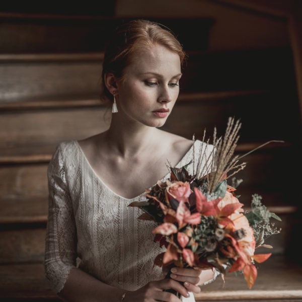
POLYGON ((161 127, 171 113, 179 94, 181 64, 179 55, 155 44, 132 57, 117 82, 119 112, 130 121, 161 127), (157 112, 159 110, 168 112, 157 112))

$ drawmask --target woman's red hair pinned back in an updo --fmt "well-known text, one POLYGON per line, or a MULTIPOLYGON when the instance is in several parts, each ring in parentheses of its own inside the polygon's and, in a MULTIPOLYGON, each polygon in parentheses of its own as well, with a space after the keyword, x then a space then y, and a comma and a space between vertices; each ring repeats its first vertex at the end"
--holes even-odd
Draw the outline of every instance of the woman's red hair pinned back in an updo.
POLYGON ((132 20, 117 28, 104 55, 102 99, 113 100, 113 96, 105 85, 105 73, 112 72, 116 78, 122 79, 123 72, 131 63, 133 55, 139 51, 145 51, 155 44, 160 44, 176 52, 179 55, 181 65, 183 64, 185 52, 182 45, 171 31, 161 27, 160 24, 148 20, 132 20))

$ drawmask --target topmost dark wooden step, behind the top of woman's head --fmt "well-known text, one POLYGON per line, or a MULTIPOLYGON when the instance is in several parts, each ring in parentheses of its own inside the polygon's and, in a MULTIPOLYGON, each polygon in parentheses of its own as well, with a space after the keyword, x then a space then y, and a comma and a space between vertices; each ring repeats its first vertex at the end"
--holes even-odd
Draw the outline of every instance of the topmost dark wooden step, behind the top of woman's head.
MULTIPOLYGON (((138 17, 141 19, 141 17, 138 17)), ((116 26, 137 17, 1 13, 1 53, 89 52, 104 50, 116 26), (12 38, 14 37, 14 38, 12 38), (45 39, 47 37, 47 39, 45 39), (68 37, 68 39, 66 39, 68 37)), ((147 18, 175 32, 186 49, 205 50, 212 18, 147 18), (187 32, 198 29, 198 39, 187 32)))

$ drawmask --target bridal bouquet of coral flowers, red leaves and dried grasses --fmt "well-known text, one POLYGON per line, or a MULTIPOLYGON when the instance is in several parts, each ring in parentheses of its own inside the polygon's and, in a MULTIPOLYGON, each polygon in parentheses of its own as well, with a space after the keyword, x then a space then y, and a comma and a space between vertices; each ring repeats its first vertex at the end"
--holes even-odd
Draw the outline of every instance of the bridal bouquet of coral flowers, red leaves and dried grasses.
MULTIPOLYGON (((234 175, 246 166, 239 163, 243 156, 234 156, 240 127, 239 121, 230 118, 223 137, 216 139, 214 130, 213 143, 209 144, 204 142, 204 135, 192 175, 187 171, 191 162, 182 168, 170 164, 170 179, 146 190, 147 201, 129 205, 144 211, 139 219, 157 222, 154 240, 166 249, 156 257, 155 265, 211 267, 222 278, 226 272, 241 271, 252 288, 257 277, 255 262, 271 255, 255 254, 255 250, 272 248, 265 239, 280 230, 270 219, 281 219, 262 204, 260 195, 252 196, 249 211, 239 201, 236 188, 241 181, 234 175), (230 178, 232 184, 228 184, 230 178)), ((195 150, 193 167, 194 154, 195 150)))

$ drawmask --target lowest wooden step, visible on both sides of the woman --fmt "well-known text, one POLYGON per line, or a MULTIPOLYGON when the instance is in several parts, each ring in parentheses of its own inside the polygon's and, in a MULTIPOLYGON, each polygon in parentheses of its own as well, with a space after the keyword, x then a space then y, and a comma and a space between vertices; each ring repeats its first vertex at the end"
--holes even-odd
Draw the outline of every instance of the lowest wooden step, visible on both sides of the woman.
MULTIPOLYGON (((58 301, 44 281, 42 264, 0 266, 0 298, 2 301, 58 301), (26 300, 27 299, 27 300, 26 300), (14 300, 15 301, 15 300, 14 300)), ((197 301, 301 301, 302 266, 282 255, 273 255, 260 264, 254 287, 248 289, 242 275, 226 274, 222 287, 220 277, 205 286, 197 301)))

